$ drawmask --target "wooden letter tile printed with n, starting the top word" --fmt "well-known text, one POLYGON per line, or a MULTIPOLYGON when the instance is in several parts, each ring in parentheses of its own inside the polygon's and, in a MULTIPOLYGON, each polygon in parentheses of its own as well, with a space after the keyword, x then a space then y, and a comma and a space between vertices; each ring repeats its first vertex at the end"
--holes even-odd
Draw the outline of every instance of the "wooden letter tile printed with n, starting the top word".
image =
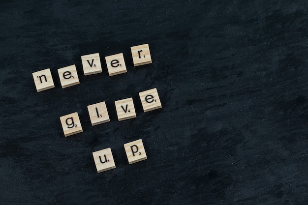
POLYGON ((46 89, 55 88, 50 69, 40 70, 32 73, 36 91, 40 92, 46 89))

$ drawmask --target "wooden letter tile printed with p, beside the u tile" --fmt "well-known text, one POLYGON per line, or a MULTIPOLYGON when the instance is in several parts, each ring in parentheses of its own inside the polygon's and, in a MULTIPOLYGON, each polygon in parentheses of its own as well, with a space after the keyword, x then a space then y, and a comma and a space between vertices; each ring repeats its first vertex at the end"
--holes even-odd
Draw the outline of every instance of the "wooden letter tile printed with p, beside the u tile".
POLYGON ((141 139, 124 144, 124 149, 128 159, 128 164, 133 164, 147 159, 147 154, 141 139))

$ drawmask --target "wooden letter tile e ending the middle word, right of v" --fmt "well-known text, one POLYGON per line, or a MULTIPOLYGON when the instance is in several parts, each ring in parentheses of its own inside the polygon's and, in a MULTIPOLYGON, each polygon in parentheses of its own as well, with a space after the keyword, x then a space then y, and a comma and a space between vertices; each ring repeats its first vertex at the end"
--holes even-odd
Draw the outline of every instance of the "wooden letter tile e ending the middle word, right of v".
POLYGON ((161 103, 156 88, 139 92, 139 96, 144 112, 161 108, 161 103))

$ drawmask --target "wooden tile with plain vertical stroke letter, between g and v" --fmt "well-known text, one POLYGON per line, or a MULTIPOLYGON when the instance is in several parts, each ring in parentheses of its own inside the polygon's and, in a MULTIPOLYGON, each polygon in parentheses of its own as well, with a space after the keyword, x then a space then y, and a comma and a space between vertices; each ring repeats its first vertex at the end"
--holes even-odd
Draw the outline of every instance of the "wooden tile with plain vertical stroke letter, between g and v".
POLYGON ((92 126, 110 121, 105 102, 89 105, 88 112, 92 126))

